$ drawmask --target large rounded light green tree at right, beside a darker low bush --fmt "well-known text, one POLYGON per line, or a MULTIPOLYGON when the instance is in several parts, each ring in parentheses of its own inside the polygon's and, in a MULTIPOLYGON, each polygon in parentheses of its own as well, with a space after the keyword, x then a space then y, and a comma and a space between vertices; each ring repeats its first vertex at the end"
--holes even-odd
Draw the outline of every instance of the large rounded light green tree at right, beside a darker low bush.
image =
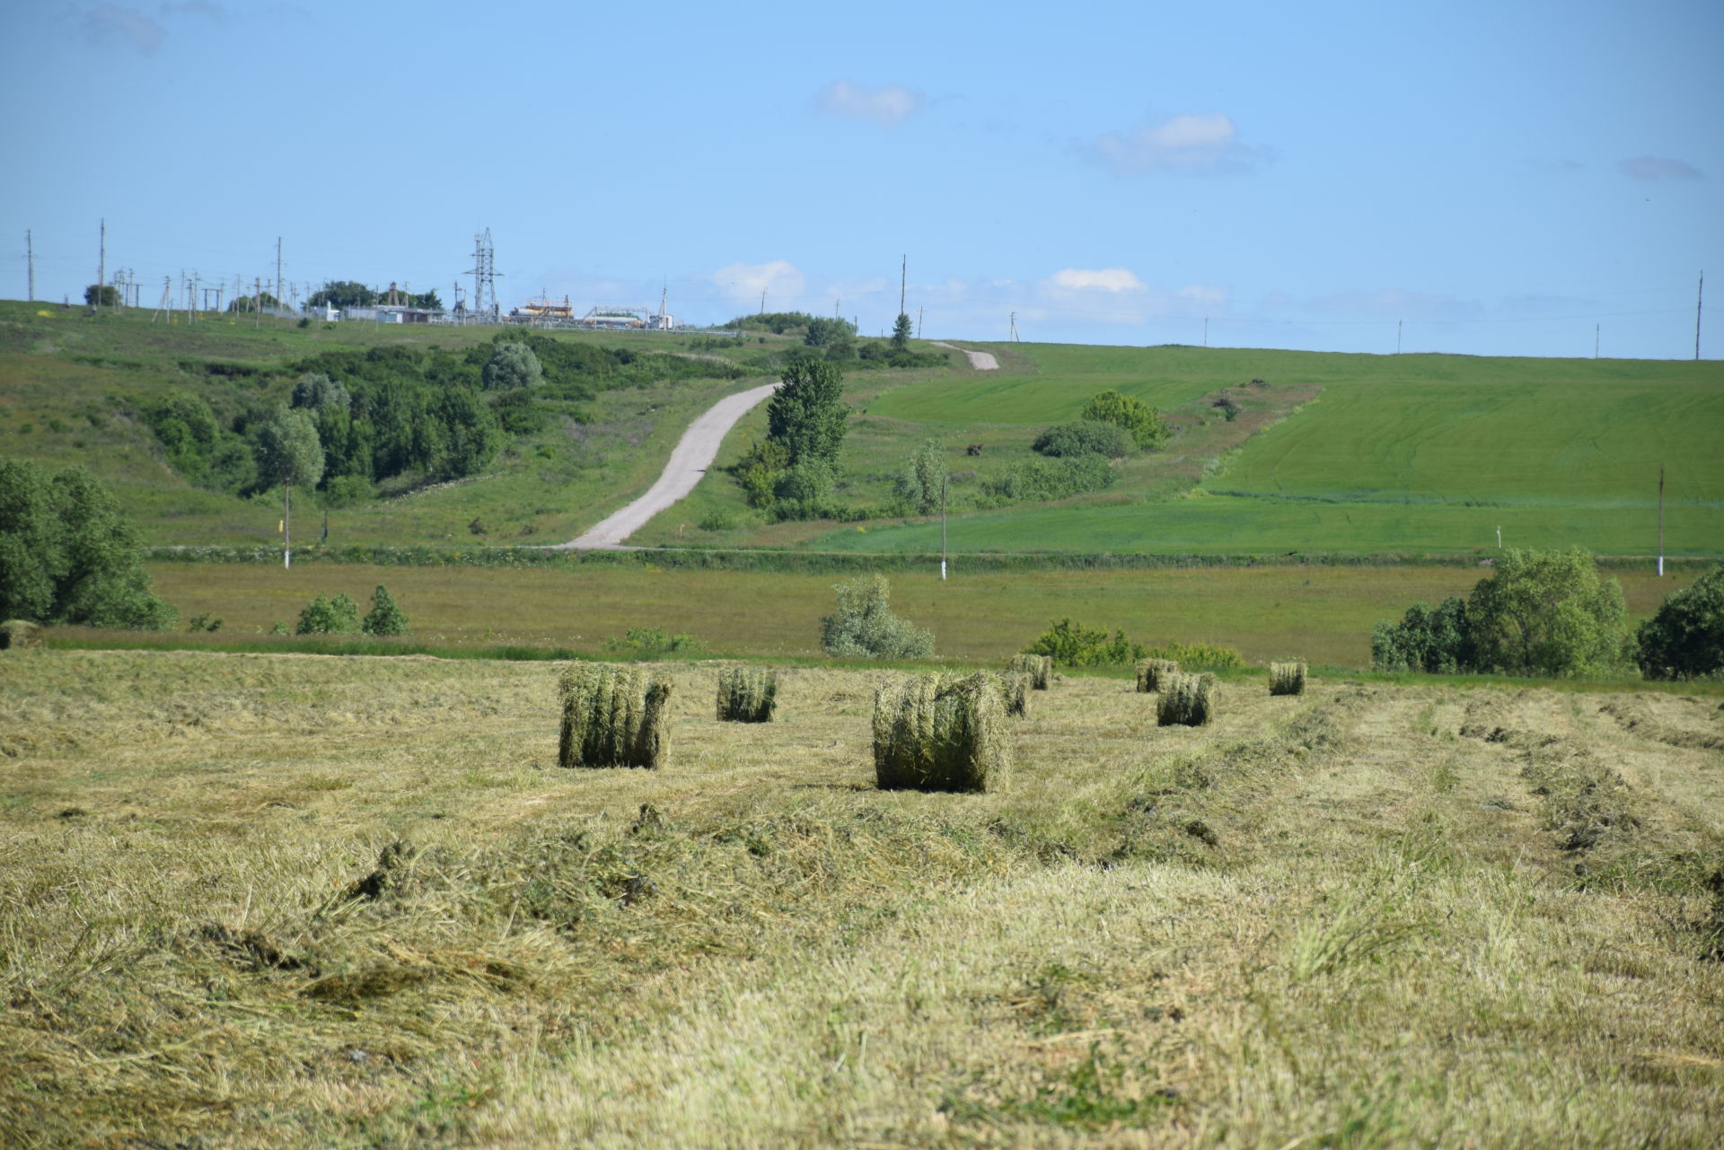
POLYGON ((1481 667, 1571 676, 1614 662, 1627 612, 1615 579, 1600 579, 1586 548, 1510 548, 1467 598, 1481 667))

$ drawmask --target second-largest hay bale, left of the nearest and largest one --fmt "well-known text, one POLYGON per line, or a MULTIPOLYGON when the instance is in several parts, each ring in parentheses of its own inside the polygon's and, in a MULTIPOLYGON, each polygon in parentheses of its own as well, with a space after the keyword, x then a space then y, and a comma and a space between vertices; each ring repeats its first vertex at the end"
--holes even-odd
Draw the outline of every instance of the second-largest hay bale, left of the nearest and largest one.
POLYGON ((572 664, 559 679, 559 767, 657 767, 671 679, 612 664, 572 664))

